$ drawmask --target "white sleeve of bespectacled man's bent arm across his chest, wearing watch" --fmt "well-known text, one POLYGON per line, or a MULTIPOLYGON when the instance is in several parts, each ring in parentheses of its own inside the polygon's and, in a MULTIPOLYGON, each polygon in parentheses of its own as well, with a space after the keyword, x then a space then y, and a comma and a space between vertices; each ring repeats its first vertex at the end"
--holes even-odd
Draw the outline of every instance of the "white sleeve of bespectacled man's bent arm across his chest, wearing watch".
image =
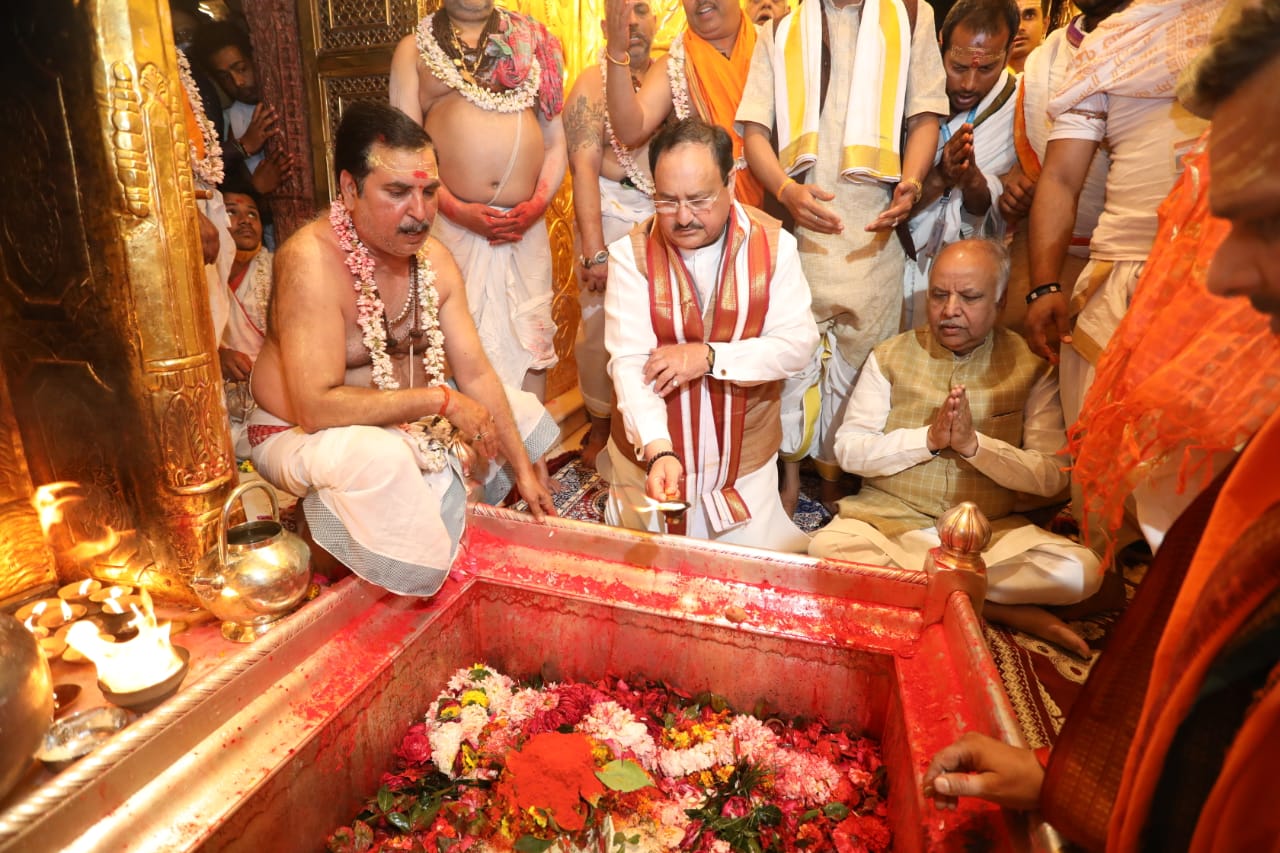
MULTIPOLYGON (((737 274, 745 275, 746 252, 741 255, 737 274)), ((746 341, 713 343, 713 375, 740 386, 754 386, 787 379, 809 366, 818 348, 818 325, 813 321, 809 300, 809 282, 800 269, 796 240, 781 232, 762 334, 746 341)))

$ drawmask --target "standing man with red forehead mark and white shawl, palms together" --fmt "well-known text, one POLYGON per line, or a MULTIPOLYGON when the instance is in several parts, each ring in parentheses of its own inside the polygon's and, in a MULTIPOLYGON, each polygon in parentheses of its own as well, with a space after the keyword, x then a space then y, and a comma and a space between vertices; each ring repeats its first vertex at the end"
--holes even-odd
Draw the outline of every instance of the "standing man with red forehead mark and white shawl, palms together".
POLYGON ((1000 0, 956 4, 942 22, 942 68, 950 117, 911 214, 915 260, 902 277, 902 330, 924 321, 929 268, 947 243, 1004 237, 1001 175, 1014 168, 1014 92, 1005 67, 1018 18, 1000 0))

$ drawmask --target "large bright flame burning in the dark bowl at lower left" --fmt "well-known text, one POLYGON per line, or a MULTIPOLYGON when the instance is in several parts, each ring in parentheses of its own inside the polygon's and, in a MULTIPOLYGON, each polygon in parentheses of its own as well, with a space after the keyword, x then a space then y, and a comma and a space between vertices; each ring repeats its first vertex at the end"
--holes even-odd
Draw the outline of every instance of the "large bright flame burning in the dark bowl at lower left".
POLYGON ((93 661, 97 679, 113 693, 136 693, 164 681, 182 669, 182 658, 169 642, 169 622, 156 624, 151 597, 142 590, 142 607, 131 605, 138 635, 123 643, 105 642, 97 626, 83 621, 67 631, 67 643, 93 661))

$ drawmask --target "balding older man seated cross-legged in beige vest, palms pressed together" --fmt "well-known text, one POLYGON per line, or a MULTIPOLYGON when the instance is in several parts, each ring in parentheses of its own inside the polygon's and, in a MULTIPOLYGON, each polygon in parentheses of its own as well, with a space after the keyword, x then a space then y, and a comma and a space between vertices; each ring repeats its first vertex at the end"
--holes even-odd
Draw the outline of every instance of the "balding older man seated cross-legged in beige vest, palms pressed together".
POLYGON ((928 325, 876 347, 836 434, 841 467, 865 478, 809 553, 923 570, 936 519, 973 501, 991 521, 987 597, 1069 605, 1101 584, 1088 548, 1012 514, 1018 493, 1068 484, 1057 374, 1021 337, 996 327, 1009 255, 964 240, 934 261, 928 325))

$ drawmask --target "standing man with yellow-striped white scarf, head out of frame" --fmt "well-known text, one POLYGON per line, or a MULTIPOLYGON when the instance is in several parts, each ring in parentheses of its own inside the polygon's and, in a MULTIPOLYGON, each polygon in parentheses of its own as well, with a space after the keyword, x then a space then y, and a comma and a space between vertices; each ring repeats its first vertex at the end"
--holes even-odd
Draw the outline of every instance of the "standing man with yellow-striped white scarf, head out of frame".
POLYGON ((840 478, 832 442, 858 369, 899 328, 906 255, 893 228, 905 228, 947 113, 933 8, 914 5, 911 20, 896 3, 800 4, 776 33, 762 28, 737 109, 751 170, 795 219, 823 333, 823 357, 783 392, 791 500, 806 456, 826 480, 840 478))

